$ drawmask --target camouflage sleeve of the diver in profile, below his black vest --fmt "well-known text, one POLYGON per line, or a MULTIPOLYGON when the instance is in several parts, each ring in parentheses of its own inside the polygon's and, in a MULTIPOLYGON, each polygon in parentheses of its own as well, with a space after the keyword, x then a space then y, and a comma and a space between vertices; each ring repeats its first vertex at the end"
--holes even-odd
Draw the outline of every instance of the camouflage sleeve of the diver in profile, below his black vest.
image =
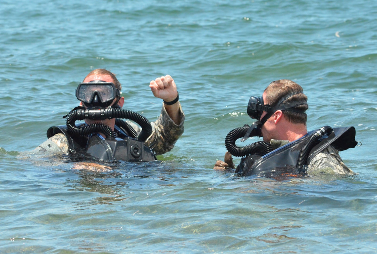
POLYGON ((317 154, 308 165, 308 173, 336 173, 342 175, 354 175, 340 158, 339 151, 333 146, 328 146, 322 152, 317 154))

